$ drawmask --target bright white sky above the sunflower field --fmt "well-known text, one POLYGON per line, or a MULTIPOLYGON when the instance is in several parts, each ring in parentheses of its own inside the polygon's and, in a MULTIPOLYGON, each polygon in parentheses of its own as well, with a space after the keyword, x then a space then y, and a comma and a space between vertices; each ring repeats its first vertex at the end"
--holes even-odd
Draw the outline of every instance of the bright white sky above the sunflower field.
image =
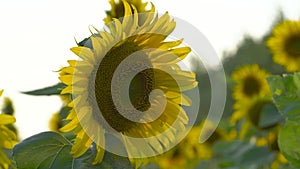
MULTIPOLYGON (((107 0, 108 1, 108 0, 107 0)), ((14 101, 21 138, 48 130, 58 97, 22 95, 58 82, 55 72, 76 59, 70 52, 90 35, 88 27, 102 28, 106 0, 10 0, 0 6, 0 89, 14 101)), ((300 18, 299 0, 153 0, 158 11, 195 25, 221 56, 233 50, 245 33, 259 38, 280 9, 287 18, 300 18)), ((3 98, 3 97, 2 97, 3 98)))

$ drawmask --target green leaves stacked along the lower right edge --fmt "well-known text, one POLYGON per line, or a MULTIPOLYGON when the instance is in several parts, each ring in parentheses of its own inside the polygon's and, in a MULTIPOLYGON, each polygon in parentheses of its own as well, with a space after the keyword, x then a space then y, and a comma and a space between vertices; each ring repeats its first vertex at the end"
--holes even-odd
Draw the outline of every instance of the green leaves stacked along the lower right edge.
POLYGON ((300 73, 268 78, 273 100, 285 117, 279 132, 279 148, 295 167, 300 167, 300 73))

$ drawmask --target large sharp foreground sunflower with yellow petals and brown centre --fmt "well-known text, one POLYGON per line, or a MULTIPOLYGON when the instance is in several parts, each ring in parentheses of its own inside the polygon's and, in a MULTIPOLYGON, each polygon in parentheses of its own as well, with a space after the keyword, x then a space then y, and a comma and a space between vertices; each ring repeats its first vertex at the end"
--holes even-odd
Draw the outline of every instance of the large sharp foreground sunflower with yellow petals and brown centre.
POLYGON ((182 92, 198 84, 195 73, 178 65, 191 49, 178 47, 182 40, 165 41, 175 28, 168 13, 157 17, 152 5, 139 25, 136 7, 122 2, 125 17, 107 24, 108 31, 96 30, 92 48, 72 48, 81 60, 68 61, 59 77, 66 84, 61 94, 72 94, 61 131, 76 134, 74 157, 96 143, 94 164, 102 161, 104 148, 131 160, 170 149, 188 123, 182 106, 192 101, 182 92), (123 148, 105 147, 116 142, 111 138, 123 148))

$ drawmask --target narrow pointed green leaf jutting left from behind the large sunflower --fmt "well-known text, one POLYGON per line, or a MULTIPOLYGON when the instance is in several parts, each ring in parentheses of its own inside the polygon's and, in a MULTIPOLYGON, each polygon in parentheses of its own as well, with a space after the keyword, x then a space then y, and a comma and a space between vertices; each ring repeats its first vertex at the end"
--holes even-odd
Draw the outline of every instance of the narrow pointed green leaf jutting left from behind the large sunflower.
POLYGON ((23 94, 34 95, 34 96, 51 96, 51 95, 59 95, 61 90, 65 88, 66 85, 63 83, 58 83, 56 85, 45 87, 42 89, 37 89, 28 92, 22 92, 23 94))

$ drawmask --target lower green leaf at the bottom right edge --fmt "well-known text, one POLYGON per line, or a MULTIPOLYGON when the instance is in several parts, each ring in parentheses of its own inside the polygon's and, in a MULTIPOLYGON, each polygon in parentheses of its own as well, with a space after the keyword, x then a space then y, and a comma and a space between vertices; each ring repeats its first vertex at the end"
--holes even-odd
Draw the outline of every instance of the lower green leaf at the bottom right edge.
POLYGON ((300 124, 287 121, 279 132, 278 144, 287 160, 295 167, 300 167, 300 124))

